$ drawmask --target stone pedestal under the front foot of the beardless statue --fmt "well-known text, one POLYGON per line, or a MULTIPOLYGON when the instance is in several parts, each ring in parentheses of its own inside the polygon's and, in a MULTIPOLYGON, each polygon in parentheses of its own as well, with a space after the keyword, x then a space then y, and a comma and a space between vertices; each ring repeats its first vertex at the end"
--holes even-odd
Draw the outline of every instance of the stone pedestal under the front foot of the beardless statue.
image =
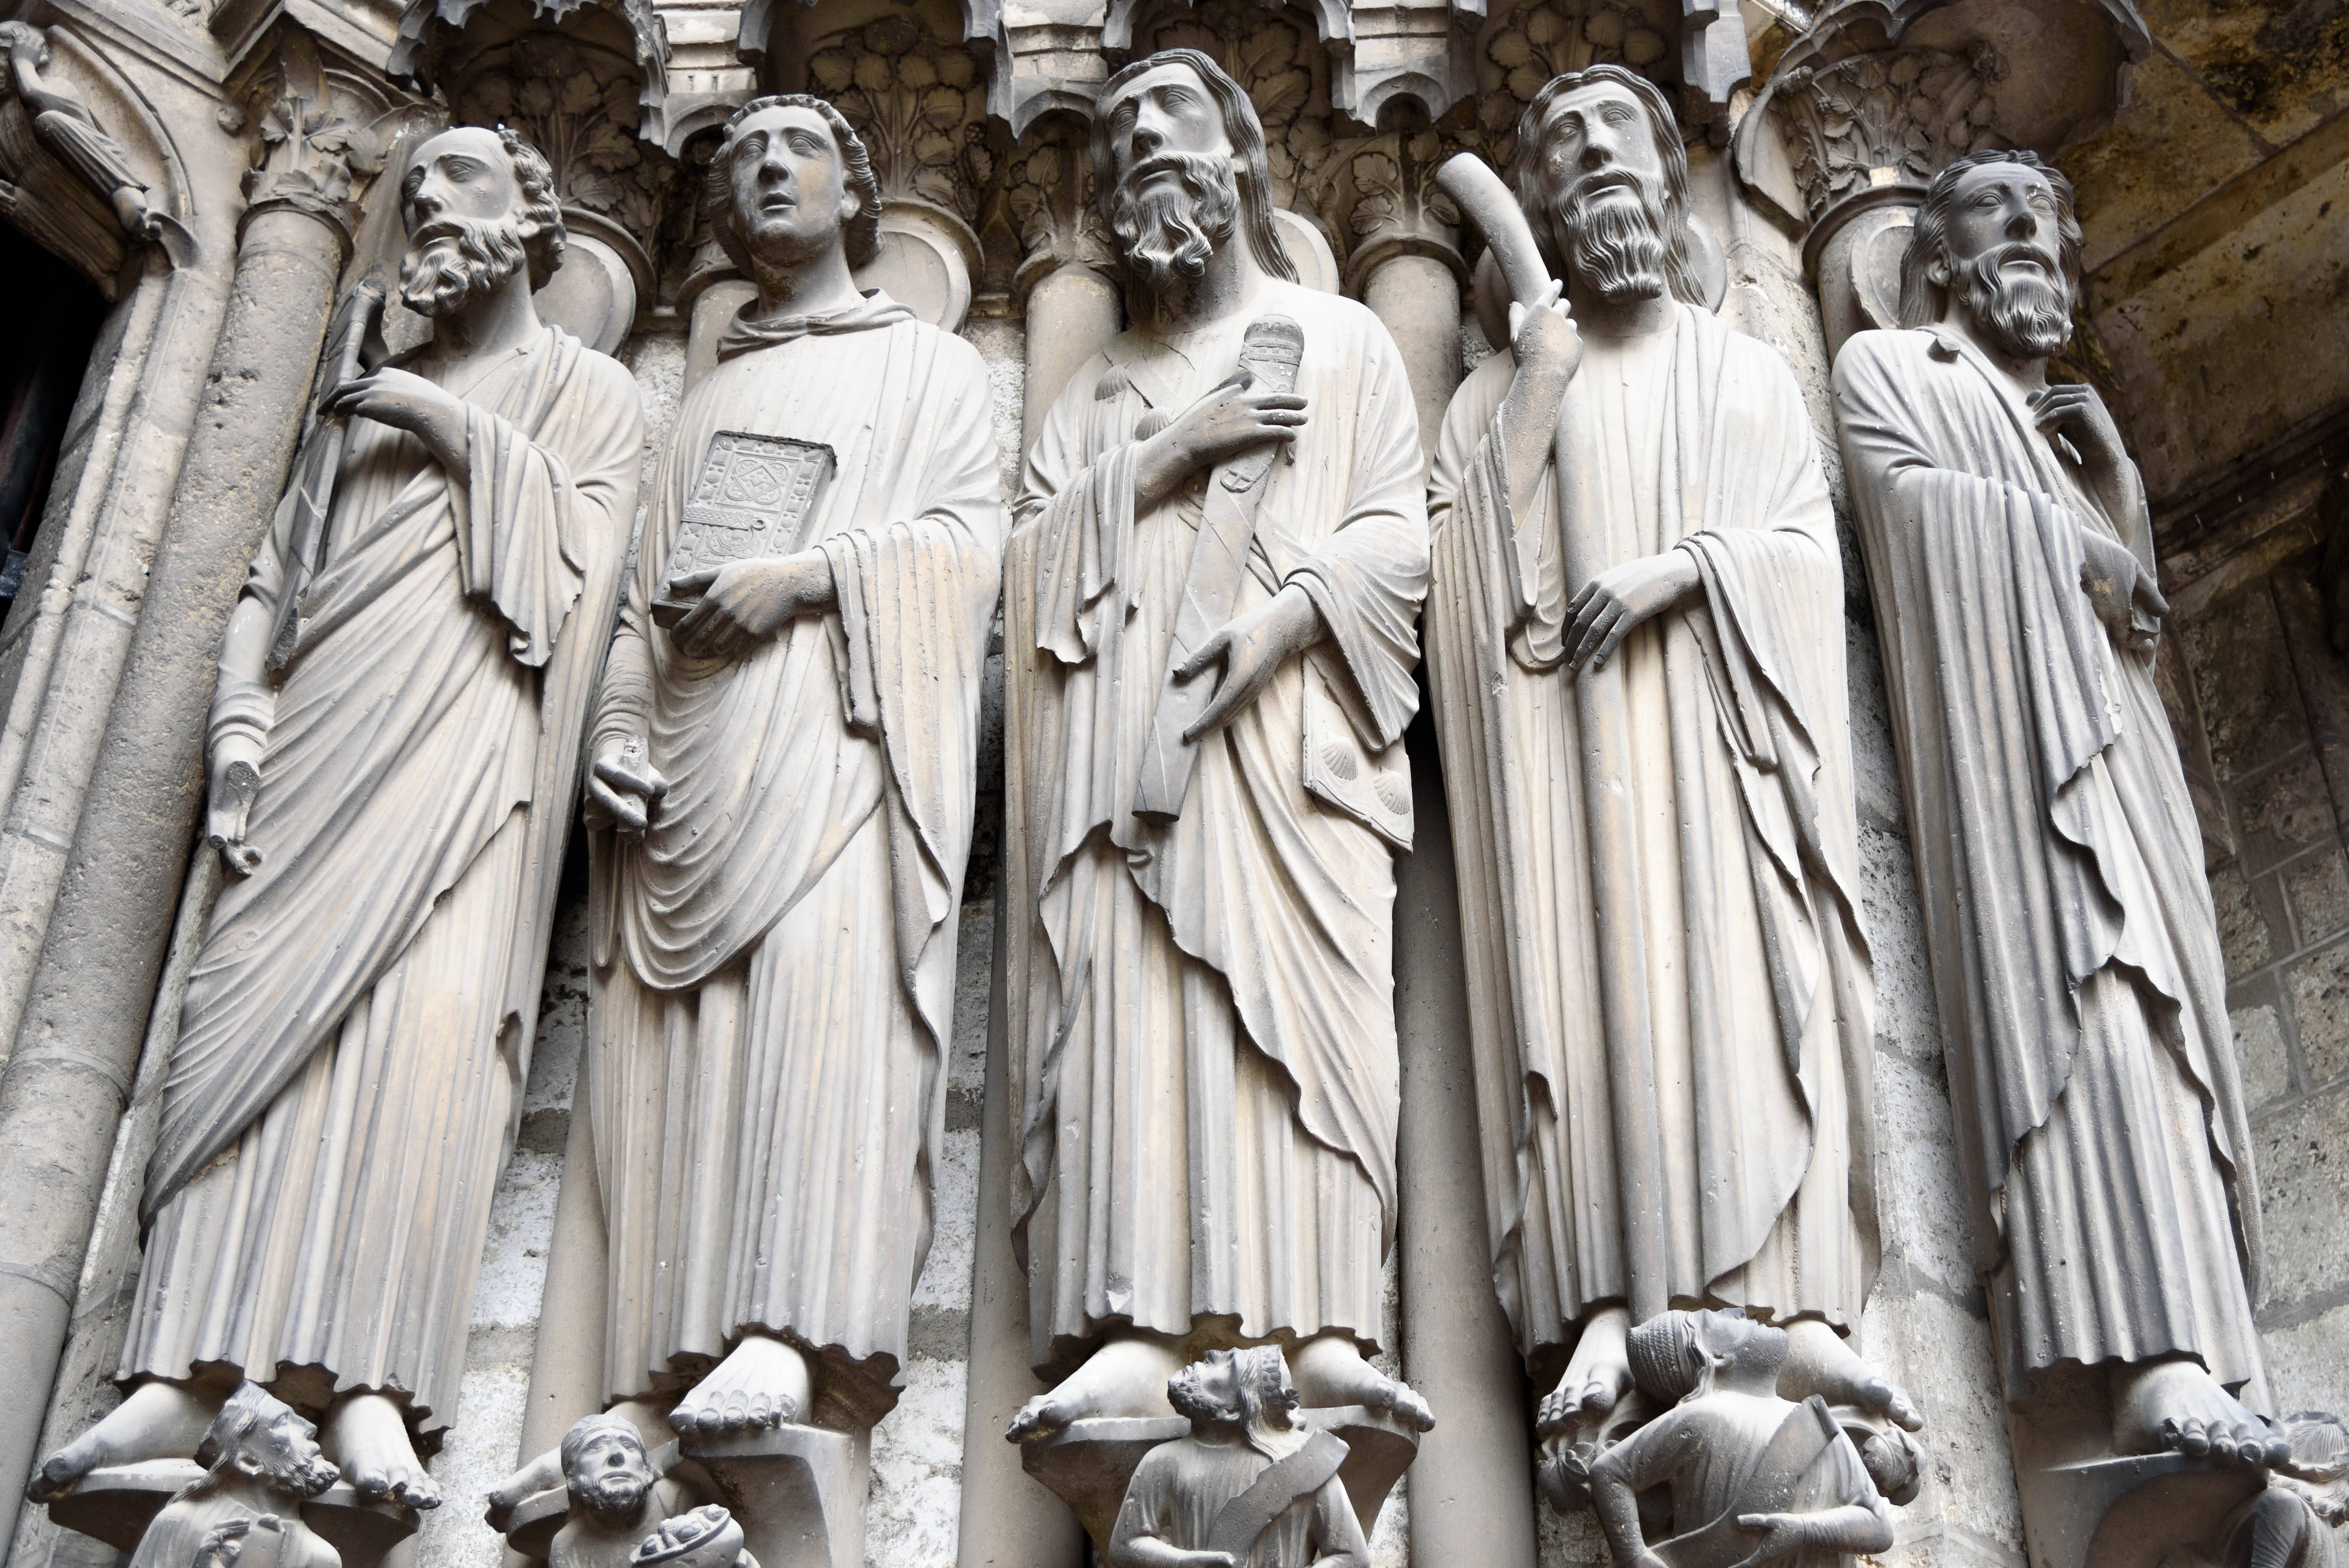
POLYGON ((864 1568, 869 1437, 792 1425, 698 1441, 688 1458, 709 1472, 759 1568, 864 1568))

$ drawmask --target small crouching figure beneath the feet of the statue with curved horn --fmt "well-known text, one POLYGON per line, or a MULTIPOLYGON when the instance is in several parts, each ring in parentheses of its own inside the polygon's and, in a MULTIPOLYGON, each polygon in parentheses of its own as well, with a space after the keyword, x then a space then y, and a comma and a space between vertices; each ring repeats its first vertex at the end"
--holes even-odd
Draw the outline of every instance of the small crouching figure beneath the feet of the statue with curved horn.
POLYGON ((1893 1545, 1893 1512, 1811 1394, 1778 1397, 1790 1336, 1741 1312, 1663 1312, 1626 1336, 1642 1394, 1670 1406, 1590 1465, 1616 1568, 1849 1566, 1893 1545), (1649 1542, 1637 1493, 1672 1500, 1649 1542))

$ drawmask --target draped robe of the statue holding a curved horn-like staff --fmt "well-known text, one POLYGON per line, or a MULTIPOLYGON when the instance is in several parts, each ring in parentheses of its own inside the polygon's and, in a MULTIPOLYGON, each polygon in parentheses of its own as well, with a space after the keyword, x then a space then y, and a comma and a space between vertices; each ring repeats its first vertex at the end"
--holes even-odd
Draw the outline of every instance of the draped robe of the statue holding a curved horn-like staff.
MULTIPOLYGON (((1574 467, 1510 514, 1494 354, 1445 413, 1431 479, 1428 688, 1459 857, 1494 1282, 1539 1376, 1614 1300, 1858 1324, 1877 1265, 1872 979, 1844 697, 1842 568, 1816 434, 1766 345, 1680 305, 1586 338, 1574 467), (1562 530, 1571 535, 1569 542, 1562 530), (1633 629, 1633 831, 1586 807, 1564 664, 1567 552, 1696 556, 1698 599, 1633 629), (1644 1012, 1600 993, 1593 866, 1637 890, 1644 1012), (1611 1068, 1654 1063, 1654 1106, 1611 1068), (1649 1122, 1663 1202, 1616 1145, 1649 1122), (1644 1235, 1661 1223, 1663 1235, 1644 1235), (1663 1279, 1637 1277, 1640 1258, 1663 1279)), ((1595 678, 1595 676, 1583 676, 1595 678)))

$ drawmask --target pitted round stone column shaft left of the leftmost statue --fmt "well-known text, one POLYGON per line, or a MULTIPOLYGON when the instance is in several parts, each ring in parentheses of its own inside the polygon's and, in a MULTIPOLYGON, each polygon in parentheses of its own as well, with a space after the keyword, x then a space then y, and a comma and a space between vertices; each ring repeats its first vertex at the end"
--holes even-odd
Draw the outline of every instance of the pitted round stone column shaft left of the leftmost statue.
POLYGON ((341 214, 263 204, 237 244, 169 528, 92 768, 49 934, 0 1077, 0 1535, 14 1533, 115 1129, 204 803, 228 615, 294 458, 341 214))

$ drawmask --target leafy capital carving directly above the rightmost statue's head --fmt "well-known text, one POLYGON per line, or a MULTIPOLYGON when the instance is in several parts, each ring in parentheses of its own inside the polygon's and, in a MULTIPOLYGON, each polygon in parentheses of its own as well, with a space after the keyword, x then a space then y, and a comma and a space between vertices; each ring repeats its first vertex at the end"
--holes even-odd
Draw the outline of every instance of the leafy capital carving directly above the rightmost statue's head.
POLYGON ((1858 190, 1921 185, 1952 157, 1994 146, 2001 80, 2006 59, 1990 45, 1886 49, 1788 73, 1771 108, 1811 221, 1858 190))

